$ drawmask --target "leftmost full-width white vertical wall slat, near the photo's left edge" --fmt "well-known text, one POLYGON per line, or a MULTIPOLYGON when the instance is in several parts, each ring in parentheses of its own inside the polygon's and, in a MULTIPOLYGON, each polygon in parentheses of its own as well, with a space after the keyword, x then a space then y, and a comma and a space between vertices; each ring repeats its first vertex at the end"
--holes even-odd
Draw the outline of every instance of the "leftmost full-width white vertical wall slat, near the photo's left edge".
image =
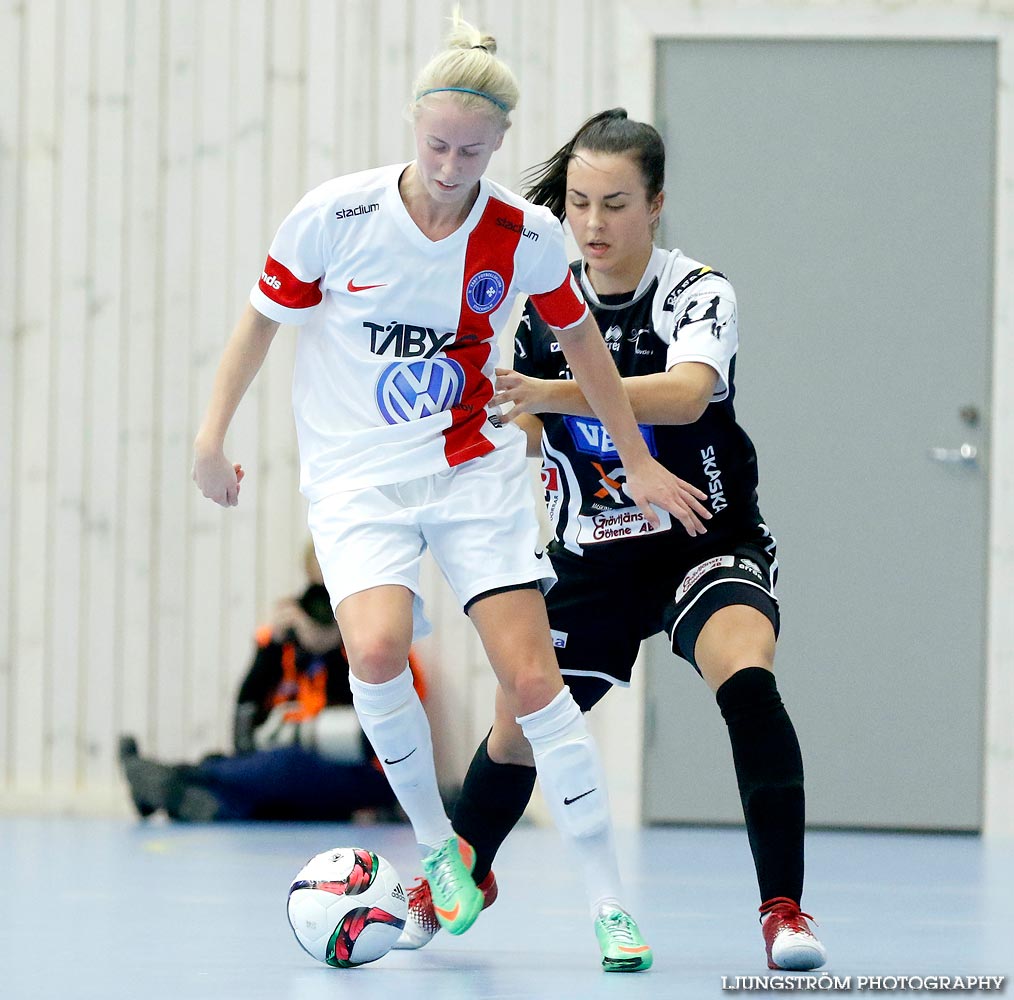
POLYGON ((11 569, 15 627, 13 659, 14 780, 32 790, 43 785, 45 685, 50 669, 46 637, 47 561, 51 556, 46 512, 52 489, 48 468, 51 357, 53 351, 53 194, 56 183, 56 40, 58 8, 41 0, 25 8, 25 57, 30 72, 24 93, 25 148, 22 228, 23 264, 16 293, 15 387, 17 412, 14 482, 16 535, 11 569))

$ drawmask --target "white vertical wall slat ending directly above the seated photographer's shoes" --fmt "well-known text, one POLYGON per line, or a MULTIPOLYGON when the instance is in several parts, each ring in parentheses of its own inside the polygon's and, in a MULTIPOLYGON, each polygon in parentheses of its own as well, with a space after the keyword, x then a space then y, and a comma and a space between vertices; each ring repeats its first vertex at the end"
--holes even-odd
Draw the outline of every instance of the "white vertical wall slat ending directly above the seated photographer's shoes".
POLYGON ((155 489, 156 336, 160 329, 161 251, 160 104, 162 72, 161 0, 138 0, 128 11, 132 40, 128 68, 129 103, 124 170, 124 317, 121 366, 123 427, 119 439, 123 473, 120 516, 123 565, 117 603, 122 610, 118 731, 136 734, 150 749, 154 736, 153 693, 157 599, 154 545, 158 532, 155 489))

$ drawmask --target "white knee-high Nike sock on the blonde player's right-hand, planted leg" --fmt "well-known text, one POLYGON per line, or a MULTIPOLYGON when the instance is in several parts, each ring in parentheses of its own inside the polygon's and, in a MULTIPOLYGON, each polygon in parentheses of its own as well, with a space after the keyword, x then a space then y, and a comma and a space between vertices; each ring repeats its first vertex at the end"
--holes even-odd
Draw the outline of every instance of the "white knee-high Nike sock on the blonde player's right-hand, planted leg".
POLYGON ((581 866, 592 915, 602 904, 620 906, 623 888, 605 774, 570 689, 517 722, 531 743, 553 818, 581 866))

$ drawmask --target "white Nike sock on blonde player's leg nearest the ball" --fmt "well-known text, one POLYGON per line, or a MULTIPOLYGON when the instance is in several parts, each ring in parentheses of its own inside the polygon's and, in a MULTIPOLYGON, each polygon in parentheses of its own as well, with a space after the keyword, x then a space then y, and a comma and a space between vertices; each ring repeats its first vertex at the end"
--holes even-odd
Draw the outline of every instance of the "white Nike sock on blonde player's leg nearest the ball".
POLYGON ((424 854, 453 836, 437 788, 430 723, 406 667, 393 681, 367 684, 349 674, 363 732, 416 833, 424 854))

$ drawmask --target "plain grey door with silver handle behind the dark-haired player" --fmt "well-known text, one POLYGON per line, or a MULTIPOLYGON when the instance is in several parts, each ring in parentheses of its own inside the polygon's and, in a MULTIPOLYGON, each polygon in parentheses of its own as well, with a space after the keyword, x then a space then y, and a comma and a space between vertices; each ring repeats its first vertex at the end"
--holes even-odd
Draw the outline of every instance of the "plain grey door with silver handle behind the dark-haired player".
MULTIPOLYGON (((996 89, 990 43, 658 48, 663 240, 737 290, 812 825, 981 826, 996 89)), ((645 819, 740 822, 711 693, 647 661, 645 819)))

